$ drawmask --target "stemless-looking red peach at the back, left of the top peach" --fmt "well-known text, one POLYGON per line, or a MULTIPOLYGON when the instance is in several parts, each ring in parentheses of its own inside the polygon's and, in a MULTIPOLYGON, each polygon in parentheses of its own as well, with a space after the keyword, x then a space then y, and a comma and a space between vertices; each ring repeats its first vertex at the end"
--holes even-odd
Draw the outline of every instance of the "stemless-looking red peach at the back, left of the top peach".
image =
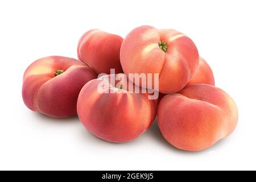
POLYGON ((115 73, 123 73, 119 59, 122 42, 121 36, 90 30, 79 40, 77 55, 97 74, 110 74, 110 69, 115 69, 115 73))

